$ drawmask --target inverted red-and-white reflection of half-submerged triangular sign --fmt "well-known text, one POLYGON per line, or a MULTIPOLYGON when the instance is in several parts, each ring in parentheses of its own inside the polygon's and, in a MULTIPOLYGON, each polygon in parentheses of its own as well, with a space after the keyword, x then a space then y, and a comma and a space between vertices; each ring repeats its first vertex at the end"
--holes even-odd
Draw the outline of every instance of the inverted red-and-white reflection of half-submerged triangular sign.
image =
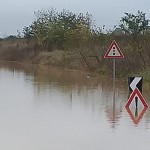
POLYGON ((126 108, 134 124, 138 124, 140 122, 140 120, 143 118, 147 109, 148 109, 147 107, 144 107, 142 111, 140 112, 140 114, 138 114, 138 108, 135 108, 135 113, 133 113, 129 107, 126 108))

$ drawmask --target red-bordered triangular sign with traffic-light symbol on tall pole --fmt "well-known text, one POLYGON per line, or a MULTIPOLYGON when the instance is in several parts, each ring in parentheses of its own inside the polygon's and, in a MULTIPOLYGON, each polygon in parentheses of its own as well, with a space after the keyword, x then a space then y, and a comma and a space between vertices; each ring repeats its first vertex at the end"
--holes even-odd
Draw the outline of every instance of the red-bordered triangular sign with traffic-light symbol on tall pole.
POLYGON ((104 58, 124 58, 123 53, 121 52, 116 41, 113 41, 108 48, 104 58))

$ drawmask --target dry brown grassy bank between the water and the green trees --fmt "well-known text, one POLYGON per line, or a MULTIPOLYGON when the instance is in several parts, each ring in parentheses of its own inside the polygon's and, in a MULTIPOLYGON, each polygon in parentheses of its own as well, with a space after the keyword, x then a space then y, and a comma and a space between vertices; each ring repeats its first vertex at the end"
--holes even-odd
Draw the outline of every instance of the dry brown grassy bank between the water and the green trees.
MULTIPOLYGON (((139 75, 145 73, 149 77, 150 52, 147 44, 140 52, 135 52, 123 39, 118 42, 125 56, 116 60, 116 76, 139 75)), ((25 39, 0 41, 0 60, 27 62, 32 64, 52 65, 68 69, 85 70, 92 73, 112 74, 112 59, 104 59, 104 54, 110 42, 103 46, 74 50, 45 50, 37 45, 35 40, 25 39)))

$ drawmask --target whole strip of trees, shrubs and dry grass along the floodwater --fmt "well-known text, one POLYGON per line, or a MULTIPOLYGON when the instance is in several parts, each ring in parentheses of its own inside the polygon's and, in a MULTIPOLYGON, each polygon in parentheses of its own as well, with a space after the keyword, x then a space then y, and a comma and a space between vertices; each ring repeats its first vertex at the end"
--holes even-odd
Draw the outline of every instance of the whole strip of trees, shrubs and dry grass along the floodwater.
POLYGON ((103 32, 89 13, 55 9, 35 12, 36 19, 23 28, 23 37, 0 39, 0 59, 52 64, 109 73, 112 60, 103 56, 116 40, 125 58, 117 60, 117 74, 129 75, 150 66, 150 27, 146 14, 125 13, 118 27, 103 32))

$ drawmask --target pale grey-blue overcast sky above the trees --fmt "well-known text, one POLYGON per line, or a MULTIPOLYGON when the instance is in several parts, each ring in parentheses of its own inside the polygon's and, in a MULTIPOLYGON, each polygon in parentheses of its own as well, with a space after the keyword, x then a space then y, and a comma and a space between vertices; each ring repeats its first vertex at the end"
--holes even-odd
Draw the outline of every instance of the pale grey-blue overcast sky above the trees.
POLYGON ((124 12, 145 12, 150 19, 150 0, 1 0, 0 36, 16 35, 24 26, 34 20, 34 11, 56 8, 67 9, 75 13, 92 14, 97 26, 113 28, 119 25, 124 12))

